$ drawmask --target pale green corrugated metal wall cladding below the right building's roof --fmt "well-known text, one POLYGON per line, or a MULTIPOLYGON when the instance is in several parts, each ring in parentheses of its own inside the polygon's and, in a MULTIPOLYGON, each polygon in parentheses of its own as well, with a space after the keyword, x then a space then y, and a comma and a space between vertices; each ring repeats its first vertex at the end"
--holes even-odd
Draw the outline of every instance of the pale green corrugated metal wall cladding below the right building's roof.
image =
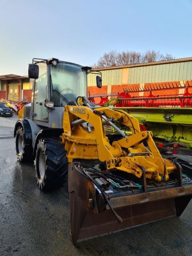
MULTIPOLYGON (((103 85, 145 84, 192 79, 192 61, 101 70, 103 85)), ((88 86, 96 86, 96 75, 88 75, 88 86)))

